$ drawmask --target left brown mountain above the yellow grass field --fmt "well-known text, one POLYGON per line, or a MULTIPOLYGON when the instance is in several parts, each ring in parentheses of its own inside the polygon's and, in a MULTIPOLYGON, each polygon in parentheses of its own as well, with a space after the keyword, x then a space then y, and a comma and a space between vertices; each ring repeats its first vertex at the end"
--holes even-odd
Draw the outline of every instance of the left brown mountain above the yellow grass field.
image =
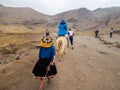
POLYGON ((39 13, 31 8, 0 7, 0 23, 8 24, 39 24, 46 21, 48 15, 39 13))

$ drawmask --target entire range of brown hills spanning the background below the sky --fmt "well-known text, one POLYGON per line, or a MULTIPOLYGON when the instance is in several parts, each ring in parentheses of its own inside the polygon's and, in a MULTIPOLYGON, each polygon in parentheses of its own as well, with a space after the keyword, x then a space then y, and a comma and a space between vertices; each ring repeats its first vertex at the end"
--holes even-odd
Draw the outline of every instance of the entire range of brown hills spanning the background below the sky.
POLYGON ((120 30, 120 7, 98 8, 94 11, 86 8, 70 10, 53 16, 45 15, 31 8, 5 7, 0 5, 0 24, 4 25, 25 25, 29 29, 44 26, 54 28, 64 18, 69 27, 76 30, 95 30, 98 28, 109 29, 114 27, 120 30), (31 26, 33 26, 31 28, 31 26))

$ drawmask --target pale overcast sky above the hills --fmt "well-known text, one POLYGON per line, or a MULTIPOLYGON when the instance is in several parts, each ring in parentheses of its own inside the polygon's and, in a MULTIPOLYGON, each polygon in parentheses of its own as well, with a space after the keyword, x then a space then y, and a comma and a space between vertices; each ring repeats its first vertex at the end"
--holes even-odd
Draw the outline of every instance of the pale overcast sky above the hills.
POLYGON ((95 10, 120 7, 120 0, 0 0, 0 4, 10 7, 30 7, 43 14, 55 15, 79 8, 95 10))

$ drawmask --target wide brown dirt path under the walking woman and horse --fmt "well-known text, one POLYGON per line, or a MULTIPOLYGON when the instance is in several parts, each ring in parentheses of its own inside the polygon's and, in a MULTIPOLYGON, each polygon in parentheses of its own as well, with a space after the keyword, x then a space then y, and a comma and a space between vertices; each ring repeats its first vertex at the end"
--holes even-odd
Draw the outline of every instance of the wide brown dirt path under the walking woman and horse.
MULTIPOLYGON (((45 90, 120 90, 120 49, 108 47, 97 38, 74 37, 74 49, 67 48, 61 62, 56 57, 58 74, 45 90)), ((38 90, 31 71, 38 50, 0 66, 0 90, 38 90)))

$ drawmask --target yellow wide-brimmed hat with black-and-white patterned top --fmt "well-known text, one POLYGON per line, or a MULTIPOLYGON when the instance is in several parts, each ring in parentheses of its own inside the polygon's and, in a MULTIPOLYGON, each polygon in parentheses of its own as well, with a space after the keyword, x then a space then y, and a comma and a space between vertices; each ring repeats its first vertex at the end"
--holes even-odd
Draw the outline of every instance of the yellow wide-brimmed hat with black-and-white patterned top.
POLYGON ((43 36, 41 39, 40 39, 40 46, 41 47, 51 47, 53 45, 53 39, 52 37, 50 36, 43 36))

